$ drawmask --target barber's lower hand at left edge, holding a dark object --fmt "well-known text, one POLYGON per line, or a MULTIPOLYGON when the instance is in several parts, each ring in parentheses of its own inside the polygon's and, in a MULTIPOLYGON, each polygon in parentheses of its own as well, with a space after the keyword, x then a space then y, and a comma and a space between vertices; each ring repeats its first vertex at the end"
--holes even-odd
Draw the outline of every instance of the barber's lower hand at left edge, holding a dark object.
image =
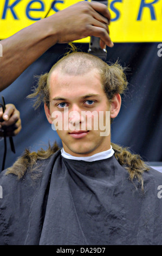
POLYGON ((3 137, 2 130, 5 129, 6 136, 15 136, 21 131, 20 112, 13 104, 5 105, 6 109, 3 113, 0 108, 0 137, 3 137))

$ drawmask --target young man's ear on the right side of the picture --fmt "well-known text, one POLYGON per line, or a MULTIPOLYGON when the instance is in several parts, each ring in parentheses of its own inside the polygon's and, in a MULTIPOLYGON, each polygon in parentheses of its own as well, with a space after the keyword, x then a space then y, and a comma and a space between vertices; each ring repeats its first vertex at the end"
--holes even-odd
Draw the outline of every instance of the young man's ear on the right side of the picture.
POLYGON ((111 100, 111 108, 110 108, 110 117, 115 118, 119 114, 121 107, 121 96, 120 94, 115 94, 113 99, 111 100))

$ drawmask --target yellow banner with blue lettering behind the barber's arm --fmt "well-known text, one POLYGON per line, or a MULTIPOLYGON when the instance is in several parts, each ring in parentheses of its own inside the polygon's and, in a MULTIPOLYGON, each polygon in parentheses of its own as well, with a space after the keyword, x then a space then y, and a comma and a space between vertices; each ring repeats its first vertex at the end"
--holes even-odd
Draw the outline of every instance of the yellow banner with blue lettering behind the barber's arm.
MULTIPOLYGON (((43 19, 52 2, 53 0, 1 0, 0 40, 43 19)), ((80 1, 57 0, 48 16, 77 2, 80 1)), ((113 42, 162 41, 162 0, 110 0, 108 9, 112 17, 110 32, 113 42)), ((89 42, 89 38, 77 42, 89 42)))

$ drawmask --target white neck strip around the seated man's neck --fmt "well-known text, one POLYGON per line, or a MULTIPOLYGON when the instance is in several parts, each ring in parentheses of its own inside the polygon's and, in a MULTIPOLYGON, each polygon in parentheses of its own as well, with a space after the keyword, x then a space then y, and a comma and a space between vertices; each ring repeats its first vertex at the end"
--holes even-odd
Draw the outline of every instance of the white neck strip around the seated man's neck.
POLYGON ((93 162, 93 161, 97 161, 97 160, 102 160, 102 159, 107 159, 111 156, 113 156, 114 154, 114 150, 111 148, 106 150, 106 151, 102 151, 100 153, 94 154, 92 156, 72 156, 68 153, 66 153, 64 151, 64 149, 61 149, 61 155, 66 158, 66 159, 72 159, 72 160, 82 160, 82 161, 87 161, 87 162, 93 162))

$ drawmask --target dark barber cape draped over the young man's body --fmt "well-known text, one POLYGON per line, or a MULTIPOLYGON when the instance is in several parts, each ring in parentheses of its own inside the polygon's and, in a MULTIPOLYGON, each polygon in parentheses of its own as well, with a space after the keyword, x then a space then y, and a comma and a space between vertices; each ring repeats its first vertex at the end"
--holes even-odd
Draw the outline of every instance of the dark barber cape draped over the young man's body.
POLYGON ((59 150, 40 173, 1 173, 0 245, 162 245, 160 172, 144 174, 142 192, 114 156, 85 162, 59 150))

